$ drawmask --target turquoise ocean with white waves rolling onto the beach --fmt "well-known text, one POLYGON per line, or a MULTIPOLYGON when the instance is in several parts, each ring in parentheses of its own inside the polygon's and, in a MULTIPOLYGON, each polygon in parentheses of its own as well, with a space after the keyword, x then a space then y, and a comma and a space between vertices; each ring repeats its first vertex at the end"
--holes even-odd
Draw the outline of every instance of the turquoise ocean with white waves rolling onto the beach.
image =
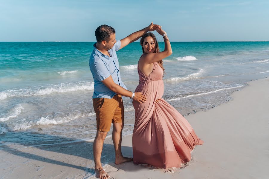
MULTIPOLYGON (((0 42, 0 149, 94 140, 94 82, 88 65, 93 44, 0 42)), ((159 44, 163 50, 164 43, 159 44)), ((247 81, 269 74, 268 41, 171 45, 173 54, 163 59, 163 98, 182 115, 229 101, 231 92, 242 89, 247 81)), ((139 42, 117 52, 122 81, 131 91, 138 84, 141 54, 139 42)), ((130 135, 134 109, 129 98, 123 100, 123 135, 130 135)), ((102 162, 110 158, 105 156, 102 162)))

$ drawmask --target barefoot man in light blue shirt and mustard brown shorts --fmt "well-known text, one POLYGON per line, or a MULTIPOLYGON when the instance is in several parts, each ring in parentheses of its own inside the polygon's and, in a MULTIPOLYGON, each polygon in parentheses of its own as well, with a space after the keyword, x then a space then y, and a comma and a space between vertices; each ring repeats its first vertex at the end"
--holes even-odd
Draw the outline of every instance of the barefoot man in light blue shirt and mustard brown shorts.
POLYGON ((97 43, 94 44, 89 65, 94 79, 93 106, 96 114, 97 133, 93 152, 95 174, 98 178, 109 178, 101 165, 101 153, 111 123, 113 124, 112 140, 115 149, 115 164, 133 160, 123 157, 121 152, 124 118, 121 96, 130 97, 140 103, 146 101, 146 96, 141 92, 128 91, 121 81, 116 51, 138 40, 148 31, 154 31, 159 27, 159 25, 151 23, 148 27, 132 33, 122 40, 116 40, 114 28, 108 25, 101 25, 95 30, 97 43))

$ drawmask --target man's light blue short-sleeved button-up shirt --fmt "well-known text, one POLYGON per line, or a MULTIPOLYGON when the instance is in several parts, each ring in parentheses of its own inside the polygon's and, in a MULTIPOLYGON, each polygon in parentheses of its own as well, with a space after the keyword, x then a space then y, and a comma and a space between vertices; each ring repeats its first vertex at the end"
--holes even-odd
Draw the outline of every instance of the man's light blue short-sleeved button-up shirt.
POLYGON ((120 49, 121 42, 120 40, 117 40, 113 48, 108 50, 110 57, 97 50, 95 45, 96 43, 93 45, 94 49, 89 60, 90 70, 94 79, 94 94, 92 98, 111 99, 114 95, 116 95, 116 93, 109 90, 109 88, 102 82, 110 75, 116 84, 127 90, 126 86, 120 79, 120 67, 116 54, 116 51, 120 49))

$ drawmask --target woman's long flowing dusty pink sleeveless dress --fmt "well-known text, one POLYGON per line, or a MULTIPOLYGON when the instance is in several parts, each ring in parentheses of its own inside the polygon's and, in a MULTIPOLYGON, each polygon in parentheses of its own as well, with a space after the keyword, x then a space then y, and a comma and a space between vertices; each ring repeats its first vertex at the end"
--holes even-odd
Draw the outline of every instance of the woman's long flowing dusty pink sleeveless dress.
POLYGON ((135 126, 133 154, 135 164, 158 168, 182 167, 191 160, 196 145, 202 145, 189 122, 163 98, 163 69, 155 62, 149 76, 137 67, 139 85, 147 101, 133 101, 135 126), (155 102, 157 99, 160 101, 155 102))

